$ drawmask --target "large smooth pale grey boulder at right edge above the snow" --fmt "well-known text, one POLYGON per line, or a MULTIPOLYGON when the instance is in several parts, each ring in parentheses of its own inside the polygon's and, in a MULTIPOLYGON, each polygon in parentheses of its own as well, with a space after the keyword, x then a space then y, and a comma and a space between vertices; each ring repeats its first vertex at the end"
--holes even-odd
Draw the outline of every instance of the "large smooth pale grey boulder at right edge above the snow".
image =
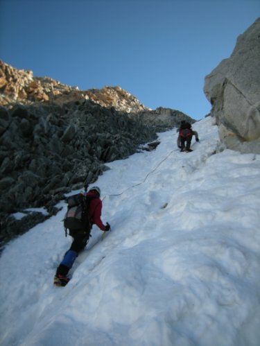
POLYGON ((260 153, 260 18, 238 37, 230 58, 205 78, 220 139, 227 148, 260 153))

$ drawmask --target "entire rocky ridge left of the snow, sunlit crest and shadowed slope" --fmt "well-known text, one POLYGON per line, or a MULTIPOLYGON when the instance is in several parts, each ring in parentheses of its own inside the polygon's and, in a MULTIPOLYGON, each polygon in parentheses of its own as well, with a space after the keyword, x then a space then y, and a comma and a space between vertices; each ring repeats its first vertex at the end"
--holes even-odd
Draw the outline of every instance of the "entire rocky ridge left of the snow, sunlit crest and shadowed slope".
POLYGON ((150 111, 119 87, 87 95, 3 63, 0 85, 0 245, 55 214, 58 201, 95 182, 106 162, 193 122, 175 110, 150 111))

